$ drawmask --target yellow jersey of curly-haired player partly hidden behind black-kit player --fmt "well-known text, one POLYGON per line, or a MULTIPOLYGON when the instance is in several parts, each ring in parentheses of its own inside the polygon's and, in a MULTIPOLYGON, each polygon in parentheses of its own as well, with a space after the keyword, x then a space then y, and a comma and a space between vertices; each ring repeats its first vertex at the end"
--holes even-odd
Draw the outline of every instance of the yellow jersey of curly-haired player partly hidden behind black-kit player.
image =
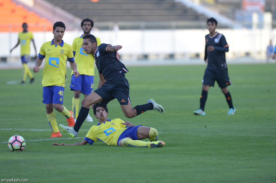
MULTIPOLYGON (((100 38, 96 37, 97 46, 101 44, 100 38)), ((92 54, 86 54, 82 48, 83 44, 83 35, 74 39, 72 43, 72 49, 75 54, 75 62, 78 66, 78 72, 80 74, 94 76, 94 62, 95 58, 92 54)), ((73 70, 71 75, 73 75, 73 70)))

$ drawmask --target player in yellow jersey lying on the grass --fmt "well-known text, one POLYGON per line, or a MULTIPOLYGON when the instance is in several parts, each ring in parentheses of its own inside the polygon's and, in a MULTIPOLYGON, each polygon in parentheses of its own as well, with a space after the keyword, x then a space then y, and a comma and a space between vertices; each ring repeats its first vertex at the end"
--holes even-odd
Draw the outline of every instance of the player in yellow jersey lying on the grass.
MULTIPOLYGON (((129 146, 129 147, 162 147, 165 145, 162 141, 157 141, 158 132, 151 127, 143 127, 141 125, 134 126, 130 122, 117 118, 110 120, 107 118, 107 105, 99 102, 93 105, 95 118, 98 119, 98 125, 93 125, 88 131, 82 142, 74 144, 57 144, 52 145, 92 145, 95 141, 104 142, 107 145, 129 146), (145 142, 142 139, 149 138, 150 141, 145 142)), ((68 128, 60 125, 60 129, 68 133, 65 129, 68 128)))

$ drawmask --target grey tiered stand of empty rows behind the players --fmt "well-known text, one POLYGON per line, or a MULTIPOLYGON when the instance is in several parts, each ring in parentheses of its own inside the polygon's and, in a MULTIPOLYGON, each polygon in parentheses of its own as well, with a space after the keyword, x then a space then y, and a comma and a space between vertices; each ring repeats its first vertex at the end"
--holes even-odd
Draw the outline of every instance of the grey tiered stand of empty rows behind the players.
MULTIPOLYGON (((120 29, 139 29, 141 26, 143 29, 171 29, 173 21, 175 28, 206 27, 205 15, 174 0, 47 1, 80 19, 89 17, 97 22, 97 26, 101 26, 101 23, 107 25, 108 22, 118 22, 120 29), (141 25, 140 22, 143 24, 141 25)), ((107 26, 104 29, 110 29, 110 27, 107 26)))

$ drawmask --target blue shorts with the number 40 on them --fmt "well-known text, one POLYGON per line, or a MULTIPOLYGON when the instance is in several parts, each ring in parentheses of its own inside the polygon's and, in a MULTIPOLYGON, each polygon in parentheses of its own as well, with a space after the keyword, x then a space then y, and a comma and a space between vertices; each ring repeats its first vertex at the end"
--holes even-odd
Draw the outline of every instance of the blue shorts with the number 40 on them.
POLYGON ((61 86, 44 86, 43 100, 44 104, 63 104, 64 87, 61 86))

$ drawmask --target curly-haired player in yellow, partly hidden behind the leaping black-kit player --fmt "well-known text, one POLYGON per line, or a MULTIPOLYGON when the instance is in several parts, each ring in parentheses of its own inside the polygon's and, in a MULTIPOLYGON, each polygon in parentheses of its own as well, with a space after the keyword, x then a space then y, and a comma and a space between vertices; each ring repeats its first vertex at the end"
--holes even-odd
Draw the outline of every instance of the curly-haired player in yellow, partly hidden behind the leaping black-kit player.
MULTIPOLYGON (((74 39, 72 44, 73 54, 75 57, 75 62, 78 65, 78 72, 80 73, 79 77, 75 77, 72 72, 71 79, 71 90, 74 90, 74 96, 72 99, 72 111, 74 114, 74 118, 78 117, 78 109, 80 105, 80 94, 82 93, 84 97, 91 94, 94 86, 94 55, 86 54, 82 44, 83 44, 83 36, 90 34, 94 22, 91 19, 83 19, 80 23, 81 28, 83 30, 83 35, 74 39)), ((96 37, 97 44, 101 44, 101 40, 96 37)), ((76 121, 76 120, 75 120, 76 121)), ((88 114, 86 117, 87 122, 93 122, 92 117, 88 114)))

